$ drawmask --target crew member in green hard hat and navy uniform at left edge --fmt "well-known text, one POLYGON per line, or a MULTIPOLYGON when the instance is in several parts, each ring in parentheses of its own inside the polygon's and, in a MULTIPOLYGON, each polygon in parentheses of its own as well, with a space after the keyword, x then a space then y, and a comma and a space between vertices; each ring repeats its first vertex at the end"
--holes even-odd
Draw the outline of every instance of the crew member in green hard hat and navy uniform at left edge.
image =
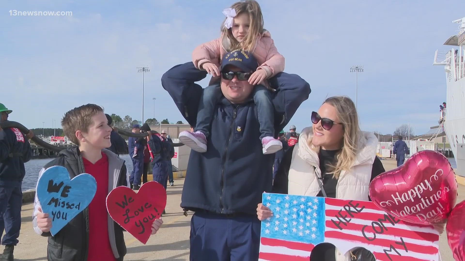
MULTIPOLYGON (((0 103, 0 121, 8 120, 11 112, 0 103)), ((23 198, 21 183, 26 174, 24 163, 32 157, 28 139, 33 136, 32 131, 25 136, 19 129, 2 130, 0 127, 0 237, 5 230, 1 241, 5 249, 0 261, 13 261, 13 249, 18 244, 23 198)))

